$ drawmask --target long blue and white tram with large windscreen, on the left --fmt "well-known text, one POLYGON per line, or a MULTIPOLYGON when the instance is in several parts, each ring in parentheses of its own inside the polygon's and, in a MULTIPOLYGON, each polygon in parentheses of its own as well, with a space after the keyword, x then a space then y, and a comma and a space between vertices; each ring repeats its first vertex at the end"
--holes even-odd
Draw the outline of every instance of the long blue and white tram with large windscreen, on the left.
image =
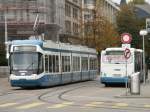
POLYGON ((50 40, 15 40, 10 47, 13 87, 54 86, 92 80, 97 74, 96 50, 50 40))

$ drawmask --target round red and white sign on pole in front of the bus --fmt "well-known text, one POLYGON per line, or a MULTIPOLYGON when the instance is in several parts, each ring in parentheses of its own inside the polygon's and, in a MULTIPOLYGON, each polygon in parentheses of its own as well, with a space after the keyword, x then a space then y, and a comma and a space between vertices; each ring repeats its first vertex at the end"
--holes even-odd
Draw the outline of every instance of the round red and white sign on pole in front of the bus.
POLYGON ((129 34, 129 33, 123 33, 123 34, 121 35, 121 42, 122 42, 123 44, 130 44, 131 41, 132 41, 132 36, 131 36, 131 34, 129 34))

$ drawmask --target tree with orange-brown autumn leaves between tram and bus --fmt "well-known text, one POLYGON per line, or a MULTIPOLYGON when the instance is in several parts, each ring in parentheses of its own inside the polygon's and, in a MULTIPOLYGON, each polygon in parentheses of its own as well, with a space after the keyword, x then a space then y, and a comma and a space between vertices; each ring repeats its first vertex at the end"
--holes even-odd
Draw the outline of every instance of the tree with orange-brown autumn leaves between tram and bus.
POLYGON ((120 38, 116 26, 103 15, 103 1, 96 0, 94 18, 85 23, 85 42, 88 46, 95 47, 101 51, 107 47, 117 47, 120 44, 120 38))

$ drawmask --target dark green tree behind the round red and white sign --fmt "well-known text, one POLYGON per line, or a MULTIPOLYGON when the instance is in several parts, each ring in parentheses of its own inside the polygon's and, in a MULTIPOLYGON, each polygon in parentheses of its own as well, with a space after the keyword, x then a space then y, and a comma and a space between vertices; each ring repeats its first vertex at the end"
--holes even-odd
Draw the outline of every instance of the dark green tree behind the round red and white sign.
POLYGON ((141 48, 139 44, 141 42, 139 31, 142 24, 141 20, 139 20, 134 13, 134 8, 131 5, 121 7, 121 11, 117 14, 117 26, 120 35, 125 32, 132 35, 132 47, 141 48))

